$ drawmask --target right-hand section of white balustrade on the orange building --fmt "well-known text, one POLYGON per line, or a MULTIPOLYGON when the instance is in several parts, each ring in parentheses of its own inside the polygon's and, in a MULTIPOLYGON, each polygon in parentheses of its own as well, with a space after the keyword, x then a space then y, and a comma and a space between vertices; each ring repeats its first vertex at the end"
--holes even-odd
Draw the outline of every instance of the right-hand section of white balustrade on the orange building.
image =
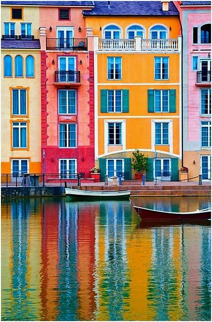
POLYGON ((141 39, 141 50, 178 51, 178 39, 141 39))

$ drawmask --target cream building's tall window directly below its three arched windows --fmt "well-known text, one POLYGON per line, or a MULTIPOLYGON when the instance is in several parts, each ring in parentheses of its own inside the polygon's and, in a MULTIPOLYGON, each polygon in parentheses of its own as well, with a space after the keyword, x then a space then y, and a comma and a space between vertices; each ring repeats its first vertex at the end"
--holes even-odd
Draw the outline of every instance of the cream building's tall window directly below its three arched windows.
POLYGON ((12 114, 27 115, 27 90, 12 90, 12 114))

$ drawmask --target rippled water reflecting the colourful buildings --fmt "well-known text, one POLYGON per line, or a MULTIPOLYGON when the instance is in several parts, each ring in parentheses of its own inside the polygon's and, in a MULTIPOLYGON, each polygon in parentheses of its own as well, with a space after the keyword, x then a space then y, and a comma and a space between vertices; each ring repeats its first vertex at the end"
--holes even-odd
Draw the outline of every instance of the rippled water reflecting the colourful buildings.
POLYGON ((210 320, 209 224, 143 224, 129 201, 3 201, 2 319, 210 320))

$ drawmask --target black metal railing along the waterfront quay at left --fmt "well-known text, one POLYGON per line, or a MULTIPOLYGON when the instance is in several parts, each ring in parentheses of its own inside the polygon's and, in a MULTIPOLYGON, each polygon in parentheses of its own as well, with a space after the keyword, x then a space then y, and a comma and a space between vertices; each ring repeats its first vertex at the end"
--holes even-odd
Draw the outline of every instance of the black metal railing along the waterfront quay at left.
POLYGON ((80 186, 79 174, 4 174, 2 187, 80 186))

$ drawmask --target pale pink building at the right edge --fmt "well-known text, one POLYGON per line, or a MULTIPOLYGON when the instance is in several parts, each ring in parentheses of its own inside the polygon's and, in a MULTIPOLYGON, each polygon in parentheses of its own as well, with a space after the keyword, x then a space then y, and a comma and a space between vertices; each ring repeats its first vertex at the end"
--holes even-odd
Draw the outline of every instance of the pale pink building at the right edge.
POLYGON ((183 30, 183 165, 190 178, 201 174, 202 180, 211 178, 210 4, 176 2, 183 30))

